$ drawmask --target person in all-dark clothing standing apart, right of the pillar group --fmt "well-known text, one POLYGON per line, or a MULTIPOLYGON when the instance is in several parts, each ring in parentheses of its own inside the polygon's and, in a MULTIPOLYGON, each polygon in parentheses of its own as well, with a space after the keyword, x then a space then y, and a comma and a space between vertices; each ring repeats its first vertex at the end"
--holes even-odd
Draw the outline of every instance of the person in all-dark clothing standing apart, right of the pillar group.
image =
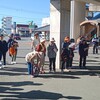
POLYGON ((89 49, 89 45, 87 44, 86 40, 82 40, 79 44, 79 55, 80 55, 80 59, 79 59, 79 67, 82 68, 86 68, 86 58, 88 56, 88 49, 89 49))

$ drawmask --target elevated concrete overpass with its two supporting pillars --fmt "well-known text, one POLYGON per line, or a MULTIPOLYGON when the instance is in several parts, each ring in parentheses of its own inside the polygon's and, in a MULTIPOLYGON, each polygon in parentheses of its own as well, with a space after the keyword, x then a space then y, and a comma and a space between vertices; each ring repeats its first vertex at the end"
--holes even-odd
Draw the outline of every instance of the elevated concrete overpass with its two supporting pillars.
POLYGON ((85 21, 86 3, 99 6, 100 0, 50 0, 50 38, 55 38, 58 47, 57 68, 60 67, 64 37, 77 39, 80 34, 80 23, 85 21))

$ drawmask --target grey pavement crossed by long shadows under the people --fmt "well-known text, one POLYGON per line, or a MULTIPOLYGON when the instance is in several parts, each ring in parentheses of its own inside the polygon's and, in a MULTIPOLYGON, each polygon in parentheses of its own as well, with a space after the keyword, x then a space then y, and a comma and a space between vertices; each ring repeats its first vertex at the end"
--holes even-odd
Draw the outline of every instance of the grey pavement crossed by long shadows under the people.
POLYGON ((27 74, 25 55, 31 51, 29 38, 19 40, 17 64, 11 65, 7 54, 7 67, 0 69, 0 100, 100 100, 100 54, 87 59, 88 69, 78 68, 75 53, 73 69, 62 74, 58 69, 49 74, 46 57, 45 74, 32 78, 27 74))

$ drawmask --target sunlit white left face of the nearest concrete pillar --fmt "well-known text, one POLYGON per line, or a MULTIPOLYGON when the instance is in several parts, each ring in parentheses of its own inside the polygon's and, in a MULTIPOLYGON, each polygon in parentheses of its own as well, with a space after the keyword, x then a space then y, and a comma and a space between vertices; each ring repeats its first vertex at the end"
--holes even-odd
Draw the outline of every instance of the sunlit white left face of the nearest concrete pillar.
POLYGON ((56 58, 56 68, 60 65, 60 0, 50 1, 50 38, 54 37, 58 52, 56 58))

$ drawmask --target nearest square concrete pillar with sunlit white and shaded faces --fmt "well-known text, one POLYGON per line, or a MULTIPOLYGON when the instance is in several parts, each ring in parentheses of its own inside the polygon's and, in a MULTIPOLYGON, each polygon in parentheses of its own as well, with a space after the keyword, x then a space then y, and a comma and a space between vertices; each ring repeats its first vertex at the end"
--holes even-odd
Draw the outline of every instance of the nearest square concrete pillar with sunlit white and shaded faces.
POLYGON ((70 1, 50 0, 50 38, 54 37, 58 47, 56 68, 60 68, 61 44, 70 34, 70 1))

